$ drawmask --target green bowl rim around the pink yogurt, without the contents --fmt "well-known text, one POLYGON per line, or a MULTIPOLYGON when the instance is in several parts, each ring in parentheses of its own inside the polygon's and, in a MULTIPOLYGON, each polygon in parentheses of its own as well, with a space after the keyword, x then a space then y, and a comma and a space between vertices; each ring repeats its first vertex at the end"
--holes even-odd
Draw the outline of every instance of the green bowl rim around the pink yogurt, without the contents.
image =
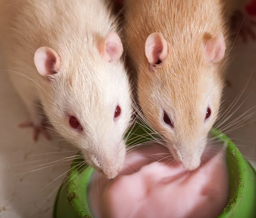
MULTIPOLYGON (((256 171, 227 136, 215 129, 212 129, 212 133, 216 139, 227 144, 230 178, 229 201, 218 218, 256 218, 256 171)), ((137 125, 129 135, 128 143, 133 145, 147 142, 153 137, 141 139, 146 134, 144 128, 137 125)), ((57 193, 53 218, 92 218, 88 210, 87 184, 93 169, 79 163, 81 159, 73 161, 67 177, 69 179, 63 182, 57 193)))

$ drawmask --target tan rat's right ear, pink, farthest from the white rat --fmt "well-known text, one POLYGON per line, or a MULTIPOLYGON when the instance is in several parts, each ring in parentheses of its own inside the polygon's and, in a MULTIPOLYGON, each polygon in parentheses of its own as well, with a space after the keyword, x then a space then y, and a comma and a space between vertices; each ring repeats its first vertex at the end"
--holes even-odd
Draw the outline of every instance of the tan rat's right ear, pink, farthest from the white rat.
POLYGON ((211 64, 218 63, 224 57, 225 49, 223 34, 212 37, 204 45, 207 61, 211 64))

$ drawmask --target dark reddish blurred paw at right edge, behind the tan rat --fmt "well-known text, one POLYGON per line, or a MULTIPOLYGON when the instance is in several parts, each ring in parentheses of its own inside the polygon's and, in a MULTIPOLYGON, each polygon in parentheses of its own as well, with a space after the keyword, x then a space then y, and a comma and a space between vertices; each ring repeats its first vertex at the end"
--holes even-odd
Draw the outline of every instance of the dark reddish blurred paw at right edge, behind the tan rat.
POLYGON ((251 17, 244 15, 242 11, 236 11, 231 20, 231 28, 234 37, 241 37, 243 42, 248 42, 249 39, 256 40, 254 27, 256 21, 251 17))

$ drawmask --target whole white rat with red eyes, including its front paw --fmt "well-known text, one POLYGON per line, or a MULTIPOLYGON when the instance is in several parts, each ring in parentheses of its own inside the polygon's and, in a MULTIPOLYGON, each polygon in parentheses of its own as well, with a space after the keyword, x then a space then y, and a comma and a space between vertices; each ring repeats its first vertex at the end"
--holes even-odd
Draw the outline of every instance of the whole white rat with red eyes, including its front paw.
POLYGON ((105 0, 2 0, 0 40, 10 78, 41 127, 41 102, 57 132, 88 164, 114 178, 131 121, 117 20, 105 0), (18 72, 18 73, 15 73, 18 72))

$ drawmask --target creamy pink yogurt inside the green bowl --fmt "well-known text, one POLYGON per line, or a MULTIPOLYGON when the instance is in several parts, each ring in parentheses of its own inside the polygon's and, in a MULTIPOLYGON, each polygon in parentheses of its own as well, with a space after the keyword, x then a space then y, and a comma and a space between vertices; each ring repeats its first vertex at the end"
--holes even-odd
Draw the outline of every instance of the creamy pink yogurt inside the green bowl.
POLYGON ((216 218, 228 191, 224 149, 209 148, 201 166, 188 172, 166 148, 150 143, 127 154, 115 179, 95 172, 88 197, 94 218, 216 218))

